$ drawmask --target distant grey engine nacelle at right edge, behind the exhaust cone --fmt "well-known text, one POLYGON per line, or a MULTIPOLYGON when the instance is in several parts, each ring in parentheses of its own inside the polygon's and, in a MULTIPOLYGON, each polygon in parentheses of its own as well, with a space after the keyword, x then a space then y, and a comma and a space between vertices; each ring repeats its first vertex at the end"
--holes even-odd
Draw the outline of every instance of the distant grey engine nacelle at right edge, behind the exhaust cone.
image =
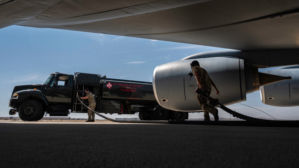
POLYGON ((283 67, 264 73, 292 77, 292 80, 280 81, 260 87, 261 99, 264 104, 279 107, 299 106, 298 65, 283 67))

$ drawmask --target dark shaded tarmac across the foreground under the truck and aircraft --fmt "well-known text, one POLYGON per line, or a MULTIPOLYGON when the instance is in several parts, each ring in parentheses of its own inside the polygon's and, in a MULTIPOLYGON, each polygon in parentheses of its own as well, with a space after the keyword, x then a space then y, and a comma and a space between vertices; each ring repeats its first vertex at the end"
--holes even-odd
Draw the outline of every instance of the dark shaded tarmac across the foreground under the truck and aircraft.
POLYGON ((298 127, 0 121, 0 133, 0 167, 299 167, 298 127))

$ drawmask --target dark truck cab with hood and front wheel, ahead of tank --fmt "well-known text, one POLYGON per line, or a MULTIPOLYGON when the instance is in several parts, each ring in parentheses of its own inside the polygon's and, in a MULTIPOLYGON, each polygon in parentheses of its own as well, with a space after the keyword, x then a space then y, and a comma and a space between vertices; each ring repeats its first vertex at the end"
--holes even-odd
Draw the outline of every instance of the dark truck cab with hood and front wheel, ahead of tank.
POLYGON ((53 73, 43 84, 15 86, 9 100, 10 115, 19 112, 23 121, 38 121, 45 112, 50 116, 68 116, 72 104, 74 76, 53 73))

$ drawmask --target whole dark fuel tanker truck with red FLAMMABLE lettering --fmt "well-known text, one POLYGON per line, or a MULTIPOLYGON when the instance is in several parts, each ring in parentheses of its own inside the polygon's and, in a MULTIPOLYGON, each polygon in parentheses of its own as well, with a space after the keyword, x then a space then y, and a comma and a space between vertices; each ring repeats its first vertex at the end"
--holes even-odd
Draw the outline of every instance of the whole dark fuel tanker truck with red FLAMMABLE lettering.
MULTIPOLYGON (((93 93, 95 111, 105 114, 135 114, 140 120, 188 119, 188 112, 167 110, 155 99, 152 83, 106 78, 106 75, 53 73, 43 84, 15 86, 9 100, 9 114, 19 113, 23 121, 38 121, 43 116, 68 116, 87 113, 77 100, 85 97, 85 88, 93 93)), ((83 99, 88 106, 88 100, 83 99)))

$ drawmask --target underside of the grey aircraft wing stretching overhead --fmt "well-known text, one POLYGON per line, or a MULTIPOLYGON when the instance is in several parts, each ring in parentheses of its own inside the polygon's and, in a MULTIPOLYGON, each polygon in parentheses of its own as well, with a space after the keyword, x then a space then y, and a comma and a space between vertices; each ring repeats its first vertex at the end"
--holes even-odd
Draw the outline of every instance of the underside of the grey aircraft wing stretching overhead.
POLYGON ((299 48, 299 1, 0 0, 0 28, 11 25, 292 50, 299 48))

